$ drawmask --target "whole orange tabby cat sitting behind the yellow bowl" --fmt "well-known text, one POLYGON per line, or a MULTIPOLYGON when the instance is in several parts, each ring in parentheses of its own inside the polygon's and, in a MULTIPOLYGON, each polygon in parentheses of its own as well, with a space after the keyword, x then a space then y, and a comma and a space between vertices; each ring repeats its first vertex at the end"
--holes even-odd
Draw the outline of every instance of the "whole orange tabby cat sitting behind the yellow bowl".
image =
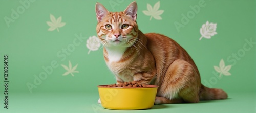
POLYGON ((158 85, 155 104, 227 98, 222 89, 201 84, 196 64, 177 42, 138 29, 136 2, 123 12, 109 12, 97 3, 96 15, 104 59, 117 83, 134 80, 158 85))

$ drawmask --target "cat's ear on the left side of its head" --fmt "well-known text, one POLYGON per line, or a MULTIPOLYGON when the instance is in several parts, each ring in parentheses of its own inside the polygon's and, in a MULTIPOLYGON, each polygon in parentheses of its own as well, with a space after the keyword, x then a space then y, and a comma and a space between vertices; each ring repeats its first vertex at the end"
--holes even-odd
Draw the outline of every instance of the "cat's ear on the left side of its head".
POLYGON ((96 3, 95 5, 95 11, 96 11, 96 15, 97 15, 97 20, 98 22, 100 22, 103 17, 105 17, 106 15, 108 15, 110 12, 108 10, 106 10, 106 8, 100 4, 100 3, 96 3))

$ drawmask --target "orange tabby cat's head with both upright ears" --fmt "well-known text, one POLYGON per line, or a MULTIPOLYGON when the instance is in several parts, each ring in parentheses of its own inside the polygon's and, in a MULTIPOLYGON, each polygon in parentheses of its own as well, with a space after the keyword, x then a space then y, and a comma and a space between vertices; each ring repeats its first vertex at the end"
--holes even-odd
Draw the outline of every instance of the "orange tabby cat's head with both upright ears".
POLYGON ((97 34, 105 47, 130 47, 137 40, 137 3, 132 2, 123 12, 109 12, 96 3, 97 34))

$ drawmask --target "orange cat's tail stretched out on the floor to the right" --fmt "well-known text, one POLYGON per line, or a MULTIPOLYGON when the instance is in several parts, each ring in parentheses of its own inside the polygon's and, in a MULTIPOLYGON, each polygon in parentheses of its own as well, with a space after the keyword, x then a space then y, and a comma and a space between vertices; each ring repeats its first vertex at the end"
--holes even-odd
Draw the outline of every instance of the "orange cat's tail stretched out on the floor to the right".
POLYGON ((200 100, 227 99, 227 93, 222 89, 208 88, 204 85, 201 85, 199 96, 200 96, 200 100))

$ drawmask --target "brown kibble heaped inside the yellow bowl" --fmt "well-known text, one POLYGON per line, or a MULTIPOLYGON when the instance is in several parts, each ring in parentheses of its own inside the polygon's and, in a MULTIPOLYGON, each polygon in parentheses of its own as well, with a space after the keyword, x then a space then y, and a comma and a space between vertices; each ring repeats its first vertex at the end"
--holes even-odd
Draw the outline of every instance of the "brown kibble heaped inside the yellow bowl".
POLYGON ((106 87, 147 87, 147 85, 138 83, 136 81, 132 81, 132 82, 129 81, 129 82, 124 82, 120 84, 111 84, 106 87))

